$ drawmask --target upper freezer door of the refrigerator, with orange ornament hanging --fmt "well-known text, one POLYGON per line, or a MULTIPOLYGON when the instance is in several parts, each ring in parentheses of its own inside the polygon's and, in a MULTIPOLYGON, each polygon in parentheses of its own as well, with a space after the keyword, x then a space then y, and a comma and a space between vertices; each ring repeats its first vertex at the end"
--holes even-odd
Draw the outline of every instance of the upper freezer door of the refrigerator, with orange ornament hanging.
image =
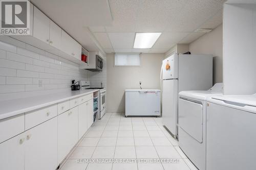
POLYGON ((172 56, 163 60, 162 63, 162 80, 177 79, 178 78, 178 55, 172 56), (166 65, 169 64, 170 68, 166 69, 166 65))

